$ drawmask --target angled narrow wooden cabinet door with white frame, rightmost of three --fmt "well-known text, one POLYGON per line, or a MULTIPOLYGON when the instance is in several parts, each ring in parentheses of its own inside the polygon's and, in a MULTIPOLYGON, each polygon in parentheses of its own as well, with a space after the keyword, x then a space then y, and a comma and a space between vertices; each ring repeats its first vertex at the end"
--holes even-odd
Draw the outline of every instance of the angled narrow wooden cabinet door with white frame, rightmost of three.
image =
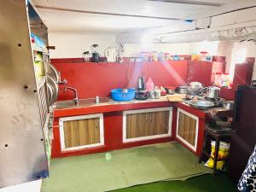
POLYGON ((177 108, 176 137, 194 151, 197 147, 198 123, 198 117, 177 108))

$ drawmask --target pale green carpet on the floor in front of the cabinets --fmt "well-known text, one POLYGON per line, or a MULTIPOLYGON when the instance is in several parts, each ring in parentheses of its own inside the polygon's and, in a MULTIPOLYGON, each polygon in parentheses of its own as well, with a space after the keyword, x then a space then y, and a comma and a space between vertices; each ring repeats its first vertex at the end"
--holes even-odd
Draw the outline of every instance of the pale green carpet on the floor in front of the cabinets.
POLYGON ((210 170, 178 143, 162 143, 53 159, 42 192, 102 192, 162 180, 184 180, 210 170))

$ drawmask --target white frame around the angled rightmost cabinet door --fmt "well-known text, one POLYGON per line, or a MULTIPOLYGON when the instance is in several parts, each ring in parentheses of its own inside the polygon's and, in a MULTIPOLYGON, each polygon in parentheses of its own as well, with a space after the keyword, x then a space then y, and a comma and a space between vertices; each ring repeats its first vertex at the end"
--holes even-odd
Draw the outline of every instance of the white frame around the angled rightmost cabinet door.
POLYGON ((196 151, 197 148, 197 139, 198 139, 198 127, 199 127, 199 118, 196 117, 194 114, 188 113, 186 111, 184 111, 181 108, 177 108, 177 129, 176 129, 176 137, 181 140, 183 143, 185 143, 189 148, 191 148, 193 151, 196 151), (188 143, 185 139, 183 139, 183 137, 180 137, 178 135, 178 119, 179 119, 179 113, 184 113, 186 115, 188 115, 190 118, 195 119, 196 120, 196 127, 195 127, 195 145, 191 145, 190 143, 188 143))

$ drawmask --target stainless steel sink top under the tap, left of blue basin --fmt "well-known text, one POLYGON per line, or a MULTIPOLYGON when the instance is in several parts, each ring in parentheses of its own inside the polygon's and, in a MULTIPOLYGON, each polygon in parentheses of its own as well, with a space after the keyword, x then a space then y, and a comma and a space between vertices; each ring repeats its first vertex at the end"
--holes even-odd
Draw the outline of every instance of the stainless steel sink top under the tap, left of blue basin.
POLYGON ((112 100, 108 97, 100 97, 99 103, 96 103, 96 97, 88 98, 88 99, 79 99, 79 102, 75 104, 73 100, 55 102, 54 107, 55 109, 61 108, 81 108, 81 107, 88 107, 93 105, 99 105, 101 103, 112 102, 112 100))

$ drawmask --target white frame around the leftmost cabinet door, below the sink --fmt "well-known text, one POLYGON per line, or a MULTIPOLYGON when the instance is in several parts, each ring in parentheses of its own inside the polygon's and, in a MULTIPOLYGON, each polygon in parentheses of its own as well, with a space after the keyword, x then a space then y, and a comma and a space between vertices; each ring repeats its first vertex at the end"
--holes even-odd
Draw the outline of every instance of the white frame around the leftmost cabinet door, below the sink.
POLYGON ((82 148, 94 148, 94 147, 104 145, 104 125, 103 125, 103 114, 102 113, 60 118, 59 119, 59 125, 60 125, 61 151, 72 151, 72 150, 78 150, 78 149, 82 149, 82 148), (100 119, 100 143, 94 143, 94 144, 89 144, 89 145, 81 145, 81 146, 77 146, 77 147, 66 148, 65 147, 65 139, 64 139, 65 138, 65 136, 64 136, 64 122, 69 121, 69 120, 93 119, 93 118, 99 118, 100 119))

